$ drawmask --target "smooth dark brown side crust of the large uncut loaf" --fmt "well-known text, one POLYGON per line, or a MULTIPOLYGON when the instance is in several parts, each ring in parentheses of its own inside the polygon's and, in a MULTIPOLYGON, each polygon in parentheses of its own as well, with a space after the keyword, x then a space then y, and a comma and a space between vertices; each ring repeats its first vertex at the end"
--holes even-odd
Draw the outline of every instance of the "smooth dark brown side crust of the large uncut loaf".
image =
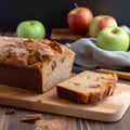
POLYGON ((42 91, 42 75, 32 67, 0 66, 0 83, 37 92, 42 91))

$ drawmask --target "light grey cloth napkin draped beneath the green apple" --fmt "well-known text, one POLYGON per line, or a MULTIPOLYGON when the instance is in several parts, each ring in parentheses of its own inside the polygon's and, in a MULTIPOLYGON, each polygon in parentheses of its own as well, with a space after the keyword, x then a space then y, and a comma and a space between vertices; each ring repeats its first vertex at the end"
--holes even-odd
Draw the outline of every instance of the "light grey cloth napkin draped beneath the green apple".
MULTIPOLYGON (((129 27, 121 26, 127 32, 129 27)), ((96 47, 95 38, 81 38, 66 46, 76 52, 75 64, 81 69, 130 67, 130 51, 106 51, 96 47)))

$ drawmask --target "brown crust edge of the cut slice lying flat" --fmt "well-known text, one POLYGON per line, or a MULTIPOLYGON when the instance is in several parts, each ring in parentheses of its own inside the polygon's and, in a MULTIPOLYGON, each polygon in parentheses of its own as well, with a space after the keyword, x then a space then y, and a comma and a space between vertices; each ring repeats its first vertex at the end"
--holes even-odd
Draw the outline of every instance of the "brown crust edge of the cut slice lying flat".
MULTIPOLYGON (((100 74, 102 76, 102 73, 100 74)), ((93 76, 94 76, 94 73, 93 73, 93 76)), ((73 101, 75 103, 81 103, 81 104, 95 103, 114 93, 118 77, 116 74, 112 74, 112 76, 113 77, 107 79, 106 82, 103 83, 102 86, 92 84, 91 92, 87 92, 86 90, 84 92, 81 92, 80 90, 78 91, 78 88, 75 91, 74 89, 70 89, 70 87, 68 89, 68 88, 63 87, 62 83, 60 83, 56 86, 57 95, 62 99, 73 101), (100 89, 95 91, 98 88, 100 89)))

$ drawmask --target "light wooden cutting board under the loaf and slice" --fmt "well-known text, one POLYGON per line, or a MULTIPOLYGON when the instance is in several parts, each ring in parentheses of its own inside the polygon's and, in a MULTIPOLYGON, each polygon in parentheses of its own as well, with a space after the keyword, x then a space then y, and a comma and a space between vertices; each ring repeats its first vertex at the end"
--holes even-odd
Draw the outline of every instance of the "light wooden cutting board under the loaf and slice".
POLYGON ((118 83, 114 95, 90 105, 57 98, 56 88, 38 94, 0 84, 0 104, 101 121, 117 121, 130 105, 130 86, 118 83))

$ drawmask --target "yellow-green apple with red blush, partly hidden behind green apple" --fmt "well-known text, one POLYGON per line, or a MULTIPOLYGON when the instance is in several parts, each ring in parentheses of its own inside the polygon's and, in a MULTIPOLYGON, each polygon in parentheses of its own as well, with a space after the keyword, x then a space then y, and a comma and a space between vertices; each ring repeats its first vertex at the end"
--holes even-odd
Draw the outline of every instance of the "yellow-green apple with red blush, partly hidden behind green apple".
POLYGON ((117 26, 117 21, 109 15, 95 16, 90 24, 89 36, 96 38, 99 32, 107 26, 117 26))

